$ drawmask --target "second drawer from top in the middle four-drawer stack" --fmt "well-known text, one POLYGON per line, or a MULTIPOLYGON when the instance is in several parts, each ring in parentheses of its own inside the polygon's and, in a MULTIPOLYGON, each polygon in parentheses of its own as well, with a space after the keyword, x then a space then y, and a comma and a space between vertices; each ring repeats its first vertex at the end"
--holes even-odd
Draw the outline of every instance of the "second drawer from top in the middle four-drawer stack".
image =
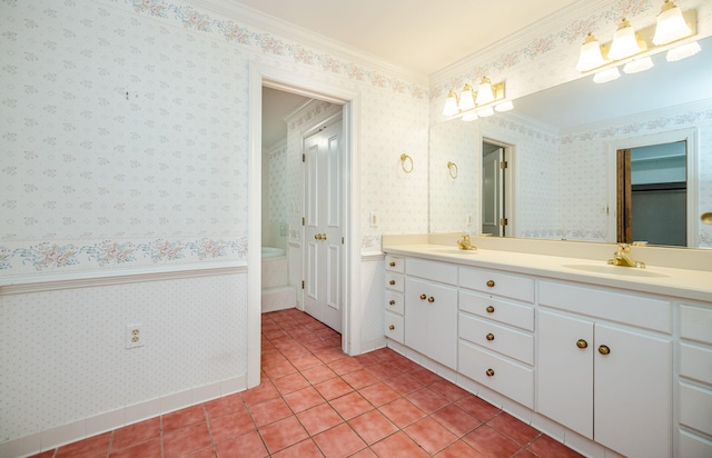
POLYGON ((528 331, 534 330, 534 308, 532 306, 461 290, 459 310, 528 331))

